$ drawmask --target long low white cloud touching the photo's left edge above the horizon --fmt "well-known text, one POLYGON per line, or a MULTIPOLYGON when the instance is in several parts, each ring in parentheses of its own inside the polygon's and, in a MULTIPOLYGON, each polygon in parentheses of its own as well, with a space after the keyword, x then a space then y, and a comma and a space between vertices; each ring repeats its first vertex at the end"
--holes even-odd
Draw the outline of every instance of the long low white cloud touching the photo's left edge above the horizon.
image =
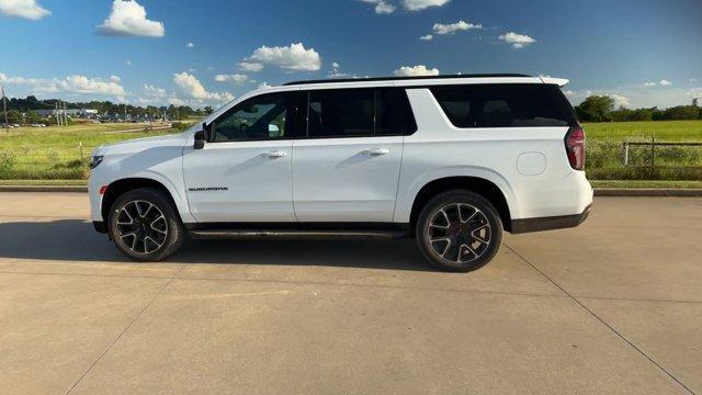
POLYGON ((33 92, 53 93, 79 93, 79 94, 101 94, 101 95, 125 95, 124 88, 118 81, 103 81, 100 78, 88 78, 86 76, 68 76, 65 78, 42 79, 24 77, 7 77, 2 75, 4 82, 29 87, 33 92))

